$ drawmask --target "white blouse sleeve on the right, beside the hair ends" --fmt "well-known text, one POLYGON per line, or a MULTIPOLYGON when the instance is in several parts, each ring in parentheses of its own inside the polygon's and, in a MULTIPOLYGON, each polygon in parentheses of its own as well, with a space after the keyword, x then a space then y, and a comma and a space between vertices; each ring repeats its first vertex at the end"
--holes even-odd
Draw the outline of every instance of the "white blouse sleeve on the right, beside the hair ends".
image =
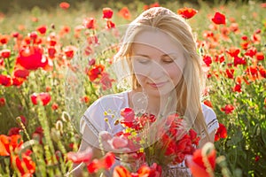
POLYGON ((218 119, 216 118, 216 114, 212 108, 205 104, 201 104, 201 106, 207 124, 207 132, 210 134, 219 127, 218 119))

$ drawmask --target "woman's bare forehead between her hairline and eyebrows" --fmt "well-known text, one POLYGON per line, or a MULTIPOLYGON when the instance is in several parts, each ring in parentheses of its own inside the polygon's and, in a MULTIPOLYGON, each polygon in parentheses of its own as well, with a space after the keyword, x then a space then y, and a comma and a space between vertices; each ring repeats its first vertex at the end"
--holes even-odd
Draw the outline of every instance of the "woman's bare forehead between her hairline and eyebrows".
POLYGON ((133 53, 137 51, 149 52, 149 50, 159 50, 166 54, 183 53, 181 44, 174 37, 159 30, 145 30, 135 36, 132 44, 133 53))

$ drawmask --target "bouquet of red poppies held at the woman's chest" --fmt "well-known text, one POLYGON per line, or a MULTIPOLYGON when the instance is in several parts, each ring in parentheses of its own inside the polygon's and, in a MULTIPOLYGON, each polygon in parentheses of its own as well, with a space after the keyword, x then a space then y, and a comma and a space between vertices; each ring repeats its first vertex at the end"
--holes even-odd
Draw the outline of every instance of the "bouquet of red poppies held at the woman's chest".
POLYGON ((125 128, 115 135, 124 140, 118 148, 134 153, 135 159, 131 161, 135 162, 135 168, 129 165, 129 171, 137 171, 136 167, 143 164, 155 163, 164 168, 182 163, 186 155, 192 155, 200 141, 197 133, 188 128, 185 119, 177 113, 156 118, 153 114, 136 114, 131 108, 124 108, 119 122, 125 128))

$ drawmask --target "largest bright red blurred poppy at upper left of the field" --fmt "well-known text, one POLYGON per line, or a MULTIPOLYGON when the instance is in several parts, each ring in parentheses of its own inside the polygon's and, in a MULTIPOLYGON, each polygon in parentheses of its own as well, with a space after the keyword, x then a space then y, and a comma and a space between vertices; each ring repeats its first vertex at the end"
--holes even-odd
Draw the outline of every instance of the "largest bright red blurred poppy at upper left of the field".
POLYGON ((43 49, 38 46, 27 46, 20 49, 17 64, 27 70, 36 70, 48 64, 48 59, 43 56, 43 49))

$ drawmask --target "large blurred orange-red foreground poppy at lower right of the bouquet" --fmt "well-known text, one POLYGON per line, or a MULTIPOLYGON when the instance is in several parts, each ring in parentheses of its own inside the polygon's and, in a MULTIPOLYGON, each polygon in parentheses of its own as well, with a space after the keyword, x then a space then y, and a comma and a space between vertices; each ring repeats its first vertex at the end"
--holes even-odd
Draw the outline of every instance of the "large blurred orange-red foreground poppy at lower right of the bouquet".
POLYGON ((194 177, 210 177, 214 173, 215 158, 215 146, 211 142, 207 142, 202 149, 195 150, 192 156, 187 156, 186 162, 194 177), (203 157, 207 158, 207 162, 203 160, 203 157), (209 165, 211 172, 207 173, 207 166, 209 165))

